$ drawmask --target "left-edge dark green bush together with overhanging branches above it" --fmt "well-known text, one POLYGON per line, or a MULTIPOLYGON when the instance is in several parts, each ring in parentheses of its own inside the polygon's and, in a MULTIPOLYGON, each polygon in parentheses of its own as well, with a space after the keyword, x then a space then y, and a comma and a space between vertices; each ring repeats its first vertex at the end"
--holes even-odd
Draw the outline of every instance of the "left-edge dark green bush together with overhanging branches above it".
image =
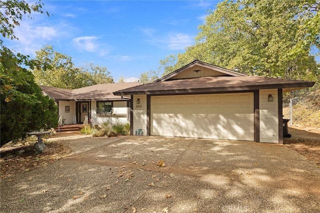
MULTIPOLYGON (((24 0, 0 1, 0 33, 3 39, 18 39, 14 28, 24 15, 46 13, 40 1, 32 4, 24 0)), ((0 145, 25 137, 32 130, 57 125, 57 108, 53 100, 42 95, 33 75, 23 67, 38 66, 27 55, 13 53, 3 45, 0 37, 0 145), (23 66, 23 67, 22 67, 23 66)))

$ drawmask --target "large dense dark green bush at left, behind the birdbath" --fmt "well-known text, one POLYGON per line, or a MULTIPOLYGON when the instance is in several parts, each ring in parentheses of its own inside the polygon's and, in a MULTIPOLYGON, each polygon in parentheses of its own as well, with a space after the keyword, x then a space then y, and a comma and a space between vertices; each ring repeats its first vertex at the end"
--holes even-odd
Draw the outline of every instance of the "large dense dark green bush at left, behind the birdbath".
POLYGON ((57 108, 52 99, 44 96, 33 75, 21 62, 25 56, 0 49, 1 146, 26 136, 29 131, 49 129, 57 125, 57 108))

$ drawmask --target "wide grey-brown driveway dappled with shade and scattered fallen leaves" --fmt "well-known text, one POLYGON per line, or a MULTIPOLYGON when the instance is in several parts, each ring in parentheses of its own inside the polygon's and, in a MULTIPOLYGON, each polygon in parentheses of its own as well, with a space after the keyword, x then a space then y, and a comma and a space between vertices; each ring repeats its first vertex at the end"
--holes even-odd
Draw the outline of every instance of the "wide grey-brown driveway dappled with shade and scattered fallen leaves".
POLYGON ((320 169, 281 144, 65 137, 72 153, 1 179, 1 212, 320 212, 320 169))

